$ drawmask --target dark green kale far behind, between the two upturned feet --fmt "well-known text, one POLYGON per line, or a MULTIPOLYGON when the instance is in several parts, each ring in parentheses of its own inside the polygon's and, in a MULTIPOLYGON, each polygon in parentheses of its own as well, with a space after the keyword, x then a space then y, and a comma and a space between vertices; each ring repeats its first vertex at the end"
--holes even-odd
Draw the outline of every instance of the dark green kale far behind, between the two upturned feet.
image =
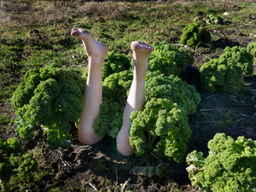
MULTIPOLYGON (((84 70, 84 79, 87 79, 88 69, 89 68, 87 67, 84 70)), ((117 54, 114 50, 109 51, 102 67, 102 80, 113 73, 119 73, 129 69, 131 69, 131 61, 125 55, 117 54)))

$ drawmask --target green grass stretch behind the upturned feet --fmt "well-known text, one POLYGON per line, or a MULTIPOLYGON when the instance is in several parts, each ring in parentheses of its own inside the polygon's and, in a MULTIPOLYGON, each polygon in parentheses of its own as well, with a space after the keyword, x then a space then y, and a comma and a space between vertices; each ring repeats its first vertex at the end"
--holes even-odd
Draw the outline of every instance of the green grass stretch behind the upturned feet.
MULTIPOLYGON (((54 5, 60 10, 67 6, 65 3, 56 2, 57 4, 49 6, 54 5)), ((38 2, 29 1, 29 4, 30 6, 38 5, 38 2)), ((12 33, 3 33, 4 38, 0 44, 3 48, 3 51, 1 51, 3 66, 1 69, 3 72, 14 71, 14 69, 16 71, 26 71, 27 68, 43 67, 52 61, 61 62, 63 65, 72 62, 71 55, 65 55, 65 51, 75 49, 75 46, 79 44, 78 39, 70 37, 69 32, 67 33, 73 26, 90 30, 93 37, 107 44, 109 49, 127 55, 132 40, 137 39, 148 44, 155 41, 177 43, 183 26, 191 22, 199 13, 206 15, 224 13, 224 8, 219 5, 209 8, 207 3, 197 1, 186 6, 173 5, 172 3, 135 4, 136 6, 130 3, 122 3, 121 6, 115 5, 113 7, 103 3, 102 6, 92 4, 90 7, 86 6, 85 18, 83 18, 83 15, 77 15, 75 18, 70 15, 71 18, 69 19, 73 19, 73 22, 65 22, 67 20, 63 22, 65 14, 62 13, 62 15, 59 15, 60 21, 51 25, 50 22, 38 23, 39 30, 37 33, 32 32, 32 26, 28 25, 31 21, 29 18, 25 20, 24 25, 27 26, 20 28, 19 32, 11 26, 3 27, 3 32, 12 31, 12 33), (131 6, 133 6, 132 9, 131 6), (144 9, 148 10, 149 15, 143 13, 142 10, 144 9), (115 19, 108 16, 113 15, 113 10, 119 12, 119 18, 115 19), (186 14, 183 15, 183 12, 186 14), (88 15, 93 15, 93 17, 88 15), (108 17, 106 18, 106 16, 108 17)), ((46 14, 49 8, 46 4, 42 3, 41 6, 43 5, 46 14)), ((13 4, 9 6, 11 7, 13 4)), ((38 12, 35 11, 34 15, 37 14, 38 12)), ((230 16, 231 18, 232 16, 230 16)), ((209 27, 215 26, 210 25, 209 27)))

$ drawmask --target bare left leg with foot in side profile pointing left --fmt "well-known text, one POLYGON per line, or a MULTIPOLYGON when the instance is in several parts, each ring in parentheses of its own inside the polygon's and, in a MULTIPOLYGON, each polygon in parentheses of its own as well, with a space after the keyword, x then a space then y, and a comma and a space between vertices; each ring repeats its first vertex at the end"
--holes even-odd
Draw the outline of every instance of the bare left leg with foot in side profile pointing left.
POLYGON ((88 78, 85 85, 83 112, 79 120, 79 140, 84 144, 95 144, 103 137, 98 137, 92 129, 96 117, 100 115, 102 104, 102 66, 108 47, 91 38, 90 32, 73 28, 71 35, 80 38, 88 55, 88 78))

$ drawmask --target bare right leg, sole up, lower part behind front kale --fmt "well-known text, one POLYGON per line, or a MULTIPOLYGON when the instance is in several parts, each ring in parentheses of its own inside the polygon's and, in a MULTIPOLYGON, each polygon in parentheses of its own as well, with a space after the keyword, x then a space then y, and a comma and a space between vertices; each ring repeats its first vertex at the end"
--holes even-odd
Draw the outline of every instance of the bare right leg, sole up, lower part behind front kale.
POLYGON ((125 156, 134 154, 129 143, 130 115, 135 110, 143 110, 146 70, 148 68, 148 58, 153 51, 153 47, 134 41, 131 43, 131 49, 133 51, 133 79, 123 114, 123 125, 116 139, 119 153, 125 156))

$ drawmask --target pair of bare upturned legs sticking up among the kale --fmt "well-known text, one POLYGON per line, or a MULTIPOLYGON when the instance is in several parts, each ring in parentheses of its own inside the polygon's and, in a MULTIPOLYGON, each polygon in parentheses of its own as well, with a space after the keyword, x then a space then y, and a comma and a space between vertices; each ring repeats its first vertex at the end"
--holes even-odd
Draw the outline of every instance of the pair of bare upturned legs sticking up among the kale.
MULTIPOLYGON (((105 44, 95 41, 90 32, 82 29, 72 29, 71 35, 80 38, 88 55, 88 78, 84 91, 84 110, 79 120, 79 140, 84 144, 95 144, 103 137, 98 137, 92 129, 96 117, 100 115, 102 104, 102 66, 105 56, 108 54, 108 47, 105 44)), ((145 76, 148 68, 148 58, 153 47, 138 41, 131 43, 133 51, 133 80, 131 89, 125 105, 123 114, 123 125, 119 131, 117 148, 120 154, 130 156, 134 154, 129 143, 129 129, 131 125, 130 115, 132 111, 143 110, 145 101, 145 76)))

